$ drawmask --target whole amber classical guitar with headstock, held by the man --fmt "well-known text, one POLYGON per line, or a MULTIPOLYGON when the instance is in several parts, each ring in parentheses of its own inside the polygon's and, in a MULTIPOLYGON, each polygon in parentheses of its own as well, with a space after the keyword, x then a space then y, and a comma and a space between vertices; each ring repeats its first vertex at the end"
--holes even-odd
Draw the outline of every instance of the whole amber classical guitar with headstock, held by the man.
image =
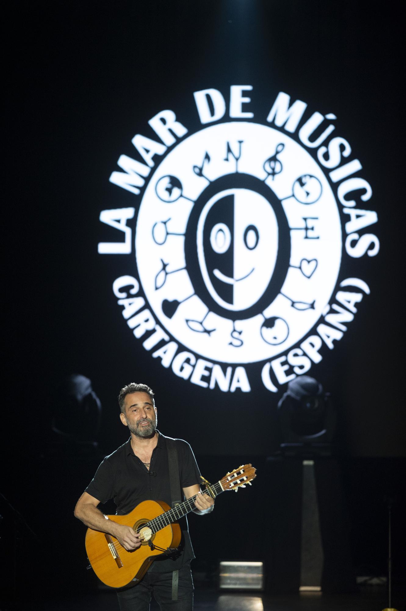
MULTIPOLYGON (((216 484, 207 480, 204 494, 213 499, 227 490, 235 490, 251 485, 255 477, 255 469, 251 464, 245 464, 227 473, 216 484)), ((94 573, 104 584, 112 588, 121 588, 134 582, 137 584, 148 570, 155 557, 170 554, 180 543, 181 531, 177 524, 179 518, 196 509, 196 496, 179 503, 173 509, 163 501, 144 500, 125 516, 107 516, 109 520, 131 526, 141 534, 141 547, 128 552, 113 537, 98 530, 87 529, 86 551, 94 573)))

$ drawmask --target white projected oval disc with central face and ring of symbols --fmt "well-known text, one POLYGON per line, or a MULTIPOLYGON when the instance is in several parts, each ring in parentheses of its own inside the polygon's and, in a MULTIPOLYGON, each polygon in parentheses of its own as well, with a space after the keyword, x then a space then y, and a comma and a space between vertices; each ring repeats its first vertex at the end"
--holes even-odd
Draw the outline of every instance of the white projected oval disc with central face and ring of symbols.
POLYGON ((155 316, 203 357, 269 359, 312 329, 335 288, 341 223, 332 189, 291 137, 212 125, 157 167, 135 252, 155 316))

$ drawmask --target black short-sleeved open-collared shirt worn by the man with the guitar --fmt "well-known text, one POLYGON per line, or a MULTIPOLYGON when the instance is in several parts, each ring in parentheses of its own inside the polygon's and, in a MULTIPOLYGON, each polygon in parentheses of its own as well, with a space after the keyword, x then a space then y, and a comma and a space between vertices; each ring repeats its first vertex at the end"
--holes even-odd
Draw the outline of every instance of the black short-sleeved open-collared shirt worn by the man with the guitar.
MULTIPOLYGON (((182 439, 176 439, 176 449, 180 488, 199 484, 200 472, 190 445, 182 439)), ((158 442, 152 452, 149 470, 140 458, 135 456, 130 438, 115 452, 105 457, 85 492, 102 503, 113 499, 117 505, 118 515, 130 513, 143 500, 163 500, 171 507, 165 436, 158 434, 158 442)), ((187 560, 194 558, 186 516, 179 521, 179 524, 182 529, 180 555, 174 554, 174 558, 158 556, 152 563, 151 571, 160 573, 173 571, 180 568, 187 560)))

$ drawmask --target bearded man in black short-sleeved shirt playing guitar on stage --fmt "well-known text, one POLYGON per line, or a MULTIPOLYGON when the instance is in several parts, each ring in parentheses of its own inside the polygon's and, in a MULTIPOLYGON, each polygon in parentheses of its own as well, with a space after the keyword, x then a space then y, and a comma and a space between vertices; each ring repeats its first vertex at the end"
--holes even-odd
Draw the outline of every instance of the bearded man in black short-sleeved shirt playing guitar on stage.
MULTIPOLYGON (((118 401, 121 409, 120 419, 124 426, 128 426, 130 439, 102 461, 90 485, 77 502, 75 516, 92 529, 90 532, 96 531, 98 535, 105 533, 106 570, 110 571, 110 566, 113 566, 120 578, 124 579, 124 583, 129 581, 126 587, 117 590, 121 611, 148 611, 152 592, 162 610, 170 607, 173 611, 191 611, 193 582, 190 560, 194 555, 186 517, 179 520, 182 533, 177 527, 179 537, 174 536, 174 539, 170 540, 175 544, 168 545, 168 549, 162 548, 161 551, 156 540, 154 546, 155 535, 151 535, 151 532, 155 532, 152 527, 154 521, 147 524, 147 519, 139 520, 140 525, 137 528, 133 522, 130 522, 130 525, 119 524, 114 521, 115 516, 111 516, 113 519, 107 518, 98 509, 98 505, 113 498, 117 505, 118 518, 133 512, 140 503, 140 507, 145 507, 148 503, 143 502, 147 500, 160 501, 164 510, 174 506, 176 511, 173 497, 179 494, 181 487, 186 499, 195 497, 194 513, 204 515, 213 510, 214 499, 209 494, 202 494, 200 490, 200 473, 190 445, 181 439, 165 437, 157 431, 157 409, 152 390, 145 384, 132 383, 121 389, 118 401), (179 473, 179 481, 175 484, 174 479, 177 476, 174 478, 174 473, 179 473), (106 541, 109 543, 108 547, 106 541), (134 569, 126 579, 124 575, 127 569, 121 563, 120 550, 121 557, 125 555, 130 561, 134 558, 136 562, 137 550, 141 545, 146 546, 143 547, 144 557, 148 558, 144 560, 138 573, 137 569, 134 569), (160 554, 155 556, 152 564, 150 552, 151 556, 153 553, 160 554), (133 575, 137 577, 133 579, 133 575)), ((180 502, 180 499, 176 500, 180 502)), ((161 509, 160 513, 163 513, 161 509)), ((159 528, 162 529, 162 525, 159 528)), ((168 526, 161 532, 169 528, 171 527, 168 526)))

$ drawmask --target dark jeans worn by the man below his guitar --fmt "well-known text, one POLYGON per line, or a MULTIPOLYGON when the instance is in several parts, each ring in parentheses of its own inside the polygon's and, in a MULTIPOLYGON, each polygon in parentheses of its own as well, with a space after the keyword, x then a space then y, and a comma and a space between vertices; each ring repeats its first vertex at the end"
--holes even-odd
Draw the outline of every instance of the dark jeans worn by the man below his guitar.
POLYGON ((172 600, 172 573, 148 571, 140 583, 132 588, 117 591, 120 611, 149 611, 154 594, 162 611, 193 611, 193 580, 190 562, 179 569, 177 601, 172 600))

